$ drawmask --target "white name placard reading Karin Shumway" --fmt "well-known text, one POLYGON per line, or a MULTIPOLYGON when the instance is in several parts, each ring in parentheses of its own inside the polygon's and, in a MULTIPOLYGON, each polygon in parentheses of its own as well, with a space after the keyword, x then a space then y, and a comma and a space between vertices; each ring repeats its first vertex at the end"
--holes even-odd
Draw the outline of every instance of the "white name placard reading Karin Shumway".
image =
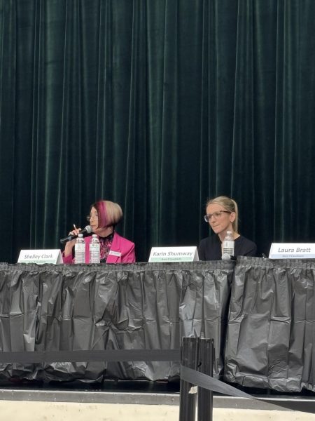
POLYGON ((199 260, 196 246, 152 247, 149 262, 195 262, 199 260))

